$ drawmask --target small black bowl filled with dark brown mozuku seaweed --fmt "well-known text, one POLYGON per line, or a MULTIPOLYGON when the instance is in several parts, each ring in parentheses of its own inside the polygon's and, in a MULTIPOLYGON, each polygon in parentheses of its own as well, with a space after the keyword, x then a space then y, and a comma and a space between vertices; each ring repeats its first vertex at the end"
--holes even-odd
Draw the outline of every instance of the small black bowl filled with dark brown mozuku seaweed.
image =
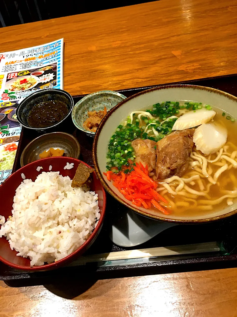
MULTIPOLYGON (((22 126, 38 132, 54 129, 70 116, 72 96, 61 89, 43 89, 25 98, 16 109, 22 126)), ((64 122, 63 122, 64 121, 64 122)))

